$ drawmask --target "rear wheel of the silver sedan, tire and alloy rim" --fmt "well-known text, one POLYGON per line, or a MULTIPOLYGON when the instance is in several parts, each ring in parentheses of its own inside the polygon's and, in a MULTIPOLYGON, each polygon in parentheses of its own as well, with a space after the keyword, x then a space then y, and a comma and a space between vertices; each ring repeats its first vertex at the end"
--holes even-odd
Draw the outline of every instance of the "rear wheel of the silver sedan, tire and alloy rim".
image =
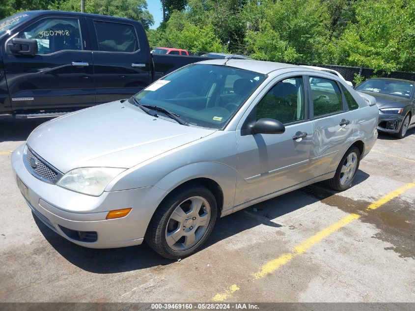
POLYGON ((326 185, 337 191, 344 191, 352 187, 356 172, 359 170, 360 150, 351 147, 341 159, 332 179, 326 180, 326 185))

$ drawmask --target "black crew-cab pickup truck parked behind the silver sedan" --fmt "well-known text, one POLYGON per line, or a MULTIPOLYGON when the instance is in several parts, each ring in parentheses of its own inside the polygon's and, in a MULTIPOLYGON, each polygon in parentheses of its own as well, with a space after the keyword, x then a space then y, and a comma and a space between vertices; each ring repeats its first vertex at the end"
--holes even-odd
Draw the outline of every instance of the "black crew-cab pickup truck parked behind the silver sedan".
POLYGON ((59 11, 0 21, 0 116, 57 116, 128 98, 203 57, 150 53, 134 20, 59 11))

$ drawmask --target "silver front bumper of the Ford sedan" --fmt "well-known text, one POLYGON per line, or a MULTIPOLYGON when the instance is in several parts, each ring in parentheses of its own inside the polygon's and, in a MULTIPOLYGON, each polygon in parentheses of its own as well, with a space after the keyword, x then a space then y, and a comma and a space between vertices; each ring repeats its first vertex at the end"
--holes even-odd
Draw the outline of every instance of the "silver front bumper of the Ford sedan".
POLYGON ((49 184, 28 172, 24 145, 11 155, 12 168, 27 187, 24 195, 33 213, 69 241, 89 248, 115 248, 141 244, 151 217, 165 197, 157 187, 104 192, 99 197, 49 184), (110 210, 132 207, 124 218, 106 220, 110 210))

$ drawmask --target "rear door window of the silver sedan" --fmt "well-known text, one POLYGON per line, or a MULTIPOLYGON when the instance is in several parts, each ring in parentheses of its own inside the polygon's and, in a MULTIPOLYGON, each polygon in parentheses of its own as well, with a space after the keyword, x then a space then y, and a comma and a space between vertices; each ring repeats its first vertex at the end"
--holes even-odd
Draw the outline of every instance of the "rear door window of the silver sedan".
POLYGON ((320 77, 309 79, 314 116, 343 111, 341 92, 335 81, 320 77))

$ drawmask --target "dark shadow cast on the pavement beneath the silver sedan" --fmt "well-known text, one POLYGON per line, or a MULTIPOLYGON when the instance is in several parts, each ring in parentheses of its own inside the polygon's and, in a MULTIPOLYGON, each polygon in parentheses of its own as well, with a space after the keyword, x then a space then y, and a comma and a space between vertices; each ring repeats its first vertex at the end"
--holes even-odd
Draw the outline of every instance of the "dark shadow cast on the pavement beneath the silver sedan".
MULTIPOLYGON (((359 170, 354 186, 368 177, 367 173, 359 170)), ((261 224, 275 228, 281 227, 278 224, 278 217, 337 193, 327 189, 322 183, 317 183, 223 217, 217 221, 215 229, 202 249, 261 224)), ((88 272, 100 274, 127 272, 174 262, 174 260, 159 256, 145 243, 118 249, 85 248, 64 239, 44 225, 35 215, 33 218, 43 236, 59 254, 88 272)))

